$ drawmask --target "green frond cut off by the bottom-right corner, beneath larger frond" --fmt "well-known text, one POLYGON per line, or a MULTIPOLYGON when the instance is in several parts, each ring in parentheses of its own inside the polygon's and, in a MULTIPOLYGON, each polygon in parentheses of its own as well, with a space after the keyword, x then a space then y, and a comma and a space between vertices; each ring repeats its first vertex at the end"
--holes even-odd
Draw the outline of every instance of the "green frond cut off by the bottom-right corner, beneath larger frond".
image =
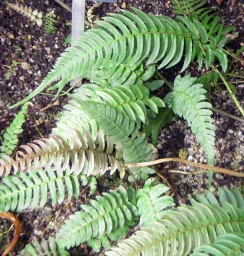
POLYGON ((220 235, 214 243, 202 245, 191 256, 243 256, 244 234, 220 235))

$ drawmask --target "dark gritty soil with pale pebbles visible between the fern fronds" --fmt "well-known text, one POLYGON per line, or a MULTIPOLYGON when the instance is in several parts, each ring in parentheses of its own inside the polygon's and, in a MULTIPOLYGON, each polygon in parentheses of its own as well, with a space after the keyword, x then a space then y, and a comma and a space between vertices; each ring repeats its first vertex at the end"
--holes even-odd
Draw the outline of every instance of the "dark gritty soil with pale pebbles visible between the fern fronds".
MULTIPOLYGON (((9 109, 9 107, 23 99, 41 83, 41 80, 51 69, 55 60, 65 49, 63 42, 71 32, 71 26, 69 25, 71 13, 63 9, 55 1, 24 0, 22 2, 31 6, 33 10, 36 8, 41 10, 43 14, 54 10, 58 20, 58 23, 56 23, 57 31, 53 35, 46 34, 44 26, 38 27, 15 11, 6 10, 4 1, 0 2, 0 135, 3 134, 20 109, 9 109), (15 67, 13 67, 13 61, 18 63, 15 67), (9 78, 7 78, 6 74, 9 70, 12 70, 12 74, 10 73, 9 78)), ((71 5, 71 0, 64 2, 71 5)), ((92 5, 93 2, 87 1, 87 9, 92 5)), ((214 0, 211 0, 209 5, 217 6, 214 0)), ((129 10, 130 6, 135 6, 146 13, 174 17, 169 0, 118 0, 116 4, 102 3, 94 11, 94 14, 102 17, 109 12, 120 12, 122 8, 129 10)), ((221 6, 217 6, 217 12, 226 25, 234 24, 236 26, 236 32, 239 33, 239 37, 229 44, 229 48, 236 52, 241 47, 240 42, 242 42, 244 37, 244 4, 241 0, 224 0, 221 6)), ((240 58, 243 57, 241 56, 240 58)), ((232 63, 231 70, 235 68, 236 73, 243 74, 243 66, 232 59, 230 60, 232 63)), ((162 70, 164 77, 172 82, 176 75, 180 74, 179 66, 177 65, 169 70, 162 70)), ((204 69, 201 71, 197 70, 197 63, 192 63, 185 71, 185 74, 191 73, 192 76, 199 76, 204 72, 204 69)), ((231 81, 238 80, 231 79, 231 81)), ((238 100, 244 105, 242 96, 244 95, 244 84, 238 83, 235 84, 235 87, 239 93, 237 96, 238 100)), ((221 92, 218 92, 213 88, 213 93, 211 94, 213 105, 231 114, 240 116, 240 112, 235 107, 225 87, 221 85, 221 89, 221 92)), ((59 104, 52 106, 57 101, 54 97, 55 94, 50 91, 45 91, 45 93, 48 93, 48 95, 40 94, 31 100, 33 106, 28 109, 28 116, 23 126, 24 131, 20 135, 20 144, 26 144, 40 136, 47 137, 55 126, 55 121, 62 110, 62 106, 67 102, 65 96, 60 96, 58 98, 59 104), (43 108, 50 105, 51 107, 43 110, 43 108)), ((243 124, 218 113, 214 113, 213 119, 217 127, 216 166, 242 171, 244 168, 243 124)), ((179 150, 185 149, 186 158, 189 161, 206 162, 203 150, 183 120, 174 120, 167 127, 163 128, 157 149, 160 158, 178 157, 179 150)), ((170 163, 162 165, 158 169, 162 171, 173 187, 177 195, 177 202, 179 198, 184 198, 183 200, 187 201, 195 193, 203 192, 206 187, 206 174, 183 175, 182 173, 169 172, 170 170, 195 171, 191 167, 170 163)), ((107 184, 110 181, 111 179, 108 177, 107 184)), ((108 186, 102 185, 103 183, 104 181, 99 181, 97 194, 108 190, 108 186)), ((243 183, 240 179, 221 174, 215 175, 214 185, 211 190, 215 192, 218 186, 243 189, 243 183)), ((80 204, 86 203, 89 197, 89 191, 87 190, 82 193, 78 201, 72 199, 70 202, 64 201, 61 205, 56 205, 55 207, 48 204, 40 209, 18 213, 17 216, 21 221, 22 233, 12 255, 20 252, 35 237, 40 238, 43 236, 47 238, 49 235, 55 235, 64 219, 71 213, 79 210, 80 204)), ((11 232, 9 233, 10 237, 11 232)), ((1 242, 4 244, 4 241, 0 239, 1 242)), ((82 246, 82 249, 72 249, 70 253, 72 256, 98 255, 84 246, 82 246)))

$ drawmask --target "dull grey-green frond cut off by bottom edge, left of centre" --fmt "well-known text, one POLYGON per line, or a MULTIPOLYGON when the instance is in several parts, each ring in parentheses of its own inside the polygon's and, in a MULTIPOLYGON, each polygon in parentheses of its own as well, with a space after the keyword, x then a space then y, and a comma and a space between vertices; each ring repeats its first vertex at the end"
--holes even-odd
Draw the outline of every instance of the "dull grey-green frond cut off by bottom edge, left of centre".
POLYGON ((63 249, 60 249, 55 239, 49 237, 48 240, 41 238, 41 242, 37 239, 33 240, 32 244, 25 246, 19 254, 20 256, 69 256, 69 253, 63 249))

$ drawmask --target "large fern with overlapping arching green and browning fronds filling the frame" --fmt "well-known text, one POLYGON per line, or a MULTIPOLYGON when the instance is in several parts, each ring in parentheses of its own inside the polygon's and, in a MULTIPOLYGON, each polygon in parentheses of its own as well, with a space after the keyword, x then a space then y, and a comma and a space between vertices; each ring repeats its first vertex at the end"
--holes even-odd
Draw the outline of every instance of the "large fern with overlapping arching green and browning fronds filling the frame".
MULTIPOLYGON (((187 4, 193 10, 201 5, 196 0, 187 4)), ((49 198, 54 205, 72 195, 78 197, 82 182, 90 182, 94 192, 94 176, 107 171, 111 175, 118 169, 121 179, 126 176, 136 184, 140 178, 147 179, 155 172, 143 166, 153 157, 149 136, 156 144, 173 113, 187 121, 208 163, 214 164, 214 125, 203 85, 190 75, 178 76, 165 96, 164 83, 155 72, 181 60, 183 71, 195 59, 199 68, 204 64, 206 69, 219 60, 225 71, 227 58, 222 47, 228 39, 224 33, 232 28, 215 26, 218 19, 211 15, 203 21, 196 15, 173 20, 133 10, 98 21, 98 26, 61 54, 41 85, 18 103, 52 84, 49 89, 57 88, 59 94, 78 77, 95 83, 67 93, 71 99, 49 138, 22 145, 14 157, 0 160, 0 175, 5 176, 0 183, 0 211, 43 206, 49 198), (220 28, 219 33, 215 27, 220 28), (161 89, 164 100, 155 96, 156 89, 161 89)), ((102 192, 69 216, 55 241, 35 241, 23 254, 66 255, 61 248, 84 242, 99 252, 101 247, 109 249, 111 240, 128 235, 136 224, 140 230, 107 255, 180 256, 194 250, 197 254, 205 252, 205 246, 215 248, 221 239, 227 239, 218 238, 220 235, 244 232, 244 199, 236 190, 220 189, 219 199, 206 192, 191 199, 191 206, 175 208, 165 192, 168 188, 153 178, 136 190, 120 186, 119 190, 102 192)), ((239 238, 233 237, 236 241, 239 238)), ((240 249, 241 239, 238 242, 240 249)))

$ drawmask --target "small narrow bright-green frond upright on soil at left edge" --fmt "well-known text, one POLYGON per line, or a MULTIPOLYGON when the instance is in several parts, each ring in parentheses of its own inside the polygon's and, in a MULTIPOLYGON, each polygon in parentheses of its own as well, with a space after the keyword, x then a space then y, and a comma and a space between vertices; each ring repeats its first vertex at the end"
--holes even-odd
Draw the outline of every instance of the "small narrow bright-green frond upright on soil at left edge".
POLYGON ((18 136, 23 131, 22 125, 25 122, 25 112, 28 108, 28 105, 31 103, 27 102, 23 105, 20 111, 17 113, 14 120, 11 122, 7 130, 3 134, 3 142, 0 146, 0 158, 4 154, 11 155, 12 152, 16 149, 19 143, 18 136))

